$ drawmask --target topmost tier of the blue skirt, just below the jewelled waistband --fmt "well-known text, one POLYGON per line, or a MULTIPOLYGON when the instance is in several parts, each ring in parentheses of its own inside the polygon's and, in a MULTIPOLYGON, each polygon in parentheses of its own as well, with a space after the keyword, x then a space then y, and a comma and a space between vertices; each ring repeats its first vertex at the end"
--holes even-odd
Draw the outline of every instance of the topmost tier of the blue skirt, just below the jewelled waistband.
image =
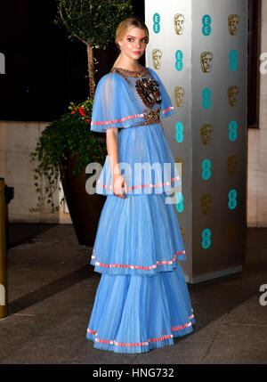
MULTIPOLYGON (((109 156, 106 157, 96 192, 113 195, 109 156)), ((182 184, 179 167, 160 124, 123 128, 118 134, 118 162, 128 194, 173 192, 182 184)))

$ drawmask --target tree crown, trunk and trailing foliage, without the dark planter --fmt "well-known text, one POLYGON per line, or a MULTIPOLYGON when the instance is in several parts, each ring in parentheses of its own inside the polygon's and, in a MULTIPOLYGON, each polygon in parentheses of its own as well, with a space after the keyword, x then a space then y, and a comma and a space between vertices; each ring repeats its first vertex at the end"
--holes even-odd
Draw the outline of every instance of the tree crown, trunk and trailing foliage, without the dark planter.
MULTIPOLYGON (((56 3, 54 23, 67 29, 71 41, 78 38, 90 45, 89 52, 93 52, 93 48, 105 49, 114 42, 119 22, 133 11, 131 0, 56 0, 56 3)), ((90 69, 93 68, 93 53, 88 57, 88 68, 94 84, 93 69, 90 69)), ((99 133, 90 130, 92 108, 93 93, 91 99, 78 105, 70 102, 70 111, 44 128, 36 143, 36 150, 29 154, 30 161, 38 162, 34 169, 34 184, 39 194, 37 207, 43 207, 45 200, 51 205, 51 212, 61 207, 65 198, 61 199, 59 206, 55 206, 53 194, 61 190, 60 180, 64 185, 69 155, 75 156, 76 160, 73 175, 85 171, 91 162, 104 163, 106 143, 101 142, 99 133)), ((36 208, 29 210, 35 211, 36 208)))

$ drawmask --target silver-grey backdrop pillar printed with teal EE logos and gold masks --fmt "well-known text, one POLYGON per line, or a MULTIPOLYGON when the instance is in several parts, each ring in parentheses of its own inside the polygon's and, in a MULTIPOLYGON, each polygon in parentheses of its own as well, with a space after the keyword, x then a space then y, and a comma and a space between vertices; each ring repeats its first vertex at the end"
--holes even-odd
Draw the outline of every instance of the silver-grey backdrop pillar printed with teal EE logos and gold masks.
POLYGON ((146 65, 166 85, 163 119, 182 164, 175 210, 197 283, 241 272, 246 250, 247 0, 146 0, 146 65))

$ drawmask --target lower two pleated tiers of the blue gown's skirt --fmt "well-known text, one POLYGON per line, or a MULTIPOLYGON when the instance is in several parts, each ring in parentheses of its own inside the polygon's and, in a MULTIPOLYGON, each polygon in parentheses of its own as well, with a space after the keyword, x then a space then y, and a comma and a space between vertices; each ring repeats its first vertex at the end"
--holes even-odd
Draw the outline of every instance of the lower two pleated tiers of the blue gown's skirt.
POLYGON ((98 349, 145 353, 174 345, 195 323, 174 205, 166 194, 108 196, 91 264, 101 272, 87 339, 98 349))

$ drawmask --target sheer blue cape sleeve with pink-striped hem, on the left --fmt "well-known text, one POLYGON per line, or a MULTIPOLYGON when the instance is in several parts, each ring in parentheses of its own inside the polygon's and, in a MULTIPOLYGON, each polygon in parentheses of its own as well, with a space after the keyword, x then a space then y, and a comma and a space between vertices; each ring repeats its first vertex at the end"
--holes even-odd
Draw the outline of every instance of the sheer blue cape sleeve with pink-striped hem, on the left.
POLYGON ((145 122, 134 93, 117 73, 101 77, 95 89, 91 130, 104 133, 108 128, 125 128, 145 122))

